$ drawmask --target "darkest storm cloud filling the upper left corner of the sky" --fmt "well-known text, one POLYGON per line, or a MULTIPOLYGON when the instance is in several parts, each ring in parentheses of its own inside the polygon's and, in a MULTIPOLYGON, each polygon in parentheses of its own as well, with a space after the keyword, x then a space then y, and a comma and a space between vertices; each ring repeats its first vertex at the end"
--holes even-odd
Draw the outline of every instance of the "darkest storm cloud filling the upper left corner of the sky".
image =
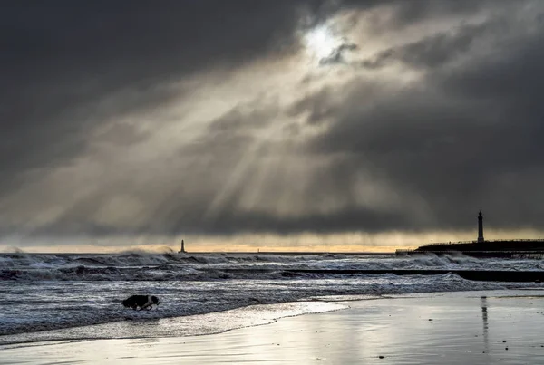
POLYGON ((289 52, 300 17, 318 14, 320 5, 7 2, 0 13, 0 171, 14 176, 73 158, 97 123, 179 96, 168 83, 193 72, 289 52))

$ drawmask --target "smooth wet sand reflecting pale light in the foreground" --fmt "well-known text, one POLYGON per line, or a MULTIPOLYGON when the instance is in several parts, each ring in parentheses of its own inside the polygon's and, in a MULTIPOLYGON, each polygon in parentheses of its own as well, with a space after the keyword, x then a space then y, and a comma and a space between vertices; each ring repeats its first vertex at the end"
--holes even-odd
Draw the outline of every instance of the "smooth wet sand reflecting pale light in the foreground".
POLYGON ((346 304, 347 310, 205 336, 3 346, 0 363, 544 363, 542 291, 432 293, 346 304))

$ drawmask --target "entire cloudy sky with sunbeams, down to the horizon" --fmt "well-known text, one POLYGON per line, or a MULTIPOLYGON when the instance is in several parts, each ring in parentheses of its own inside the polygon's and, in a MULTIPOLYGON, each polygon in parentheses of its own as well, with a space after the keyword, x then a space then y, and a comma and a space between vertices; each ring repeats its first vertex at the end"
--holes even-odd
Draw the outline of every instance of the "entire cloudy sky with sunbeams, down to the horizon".
POLYGON ((2 7, 0 251, 544 232, 540 0, 2 7))

